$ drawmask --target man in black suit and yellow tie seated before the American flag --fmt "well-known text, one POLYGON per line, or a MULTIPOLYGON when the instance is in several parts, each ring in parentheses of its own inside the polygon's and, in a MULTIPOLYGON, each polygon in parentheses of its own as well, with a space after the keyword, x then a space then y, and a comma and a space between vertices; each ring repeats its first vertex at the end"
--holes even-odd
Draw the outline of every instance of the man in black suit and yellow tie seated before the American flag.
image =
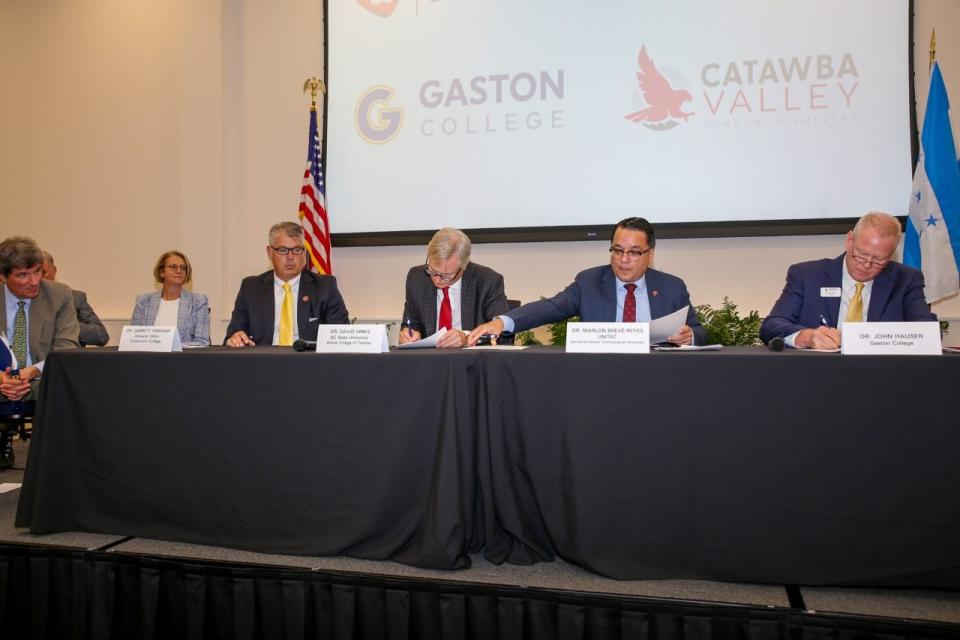
POLYGON ((337 280, 304 271, 303 228, 281 222, 270 228, 267 257, 273 270, 244 278, 223 341, 229 347, 291 345, 316 340, 321 324, 349 324, 337 280))

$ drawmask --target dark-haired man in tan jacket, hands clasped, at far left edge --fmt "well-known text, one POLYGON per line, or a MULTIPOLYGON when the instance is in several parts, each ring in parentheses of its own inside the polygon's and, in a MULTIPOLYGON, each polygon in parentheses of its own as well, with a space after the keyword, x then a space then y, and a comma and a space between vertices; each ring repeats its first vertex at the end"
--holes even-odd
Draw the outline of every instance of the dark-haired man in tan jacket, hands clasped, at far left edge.
MULTIPOLYGON (((0 414, 32 413, 47 354, 79 347, 77 312, 70 288, 43 280, 43 253, 30 238, 0 242, 0 331, 19 370, 0 372, 0 414)), ((13 464, 10 434, 0 432, 0 468, 13 464)))

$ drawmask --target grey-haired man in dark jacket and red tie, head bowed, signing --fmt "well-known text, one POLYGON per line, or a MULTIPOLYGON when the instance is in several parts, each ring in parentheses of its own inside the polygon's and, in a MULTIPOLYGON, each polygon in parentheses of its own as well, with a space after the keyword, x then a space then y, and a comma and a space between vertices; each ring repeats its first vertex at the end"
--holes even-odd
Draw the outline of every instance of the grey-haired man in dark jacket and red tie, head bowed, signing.
POLYGON ((470 238, 459 229, 445 227, 427 244, 427 261, 407 273, 400 344, 447 329, 438 347, 463 347, 464 329, 507 312, 503 276, 470 262, 470 238))

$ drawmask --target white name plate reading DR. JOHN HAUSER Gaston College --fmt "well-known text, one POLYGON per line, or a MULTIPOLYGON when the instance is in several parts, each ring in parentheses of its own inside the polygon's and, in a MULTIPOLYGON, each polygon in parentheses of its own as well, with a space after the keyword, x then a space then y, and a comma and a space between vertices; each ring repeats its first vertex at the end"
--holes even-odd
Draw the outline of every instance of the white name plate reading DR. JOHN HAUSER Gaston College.
POLYGON ((844 322, 840 327, 844 355, 938 356, 939 322, 844 322))

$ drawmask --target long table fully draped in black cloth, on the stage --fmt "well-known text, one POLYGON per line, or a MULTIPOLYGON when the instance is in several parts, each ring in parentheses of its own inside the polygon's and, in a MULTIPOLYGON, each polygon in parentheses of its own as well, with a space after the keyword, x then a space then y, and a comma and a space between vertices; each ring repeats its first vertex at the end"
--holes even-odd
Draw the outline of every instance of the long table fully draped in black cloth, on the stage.
POLYGON ((960 588, 960 358, 56 352, 17 514, 458 568, 960 588))

